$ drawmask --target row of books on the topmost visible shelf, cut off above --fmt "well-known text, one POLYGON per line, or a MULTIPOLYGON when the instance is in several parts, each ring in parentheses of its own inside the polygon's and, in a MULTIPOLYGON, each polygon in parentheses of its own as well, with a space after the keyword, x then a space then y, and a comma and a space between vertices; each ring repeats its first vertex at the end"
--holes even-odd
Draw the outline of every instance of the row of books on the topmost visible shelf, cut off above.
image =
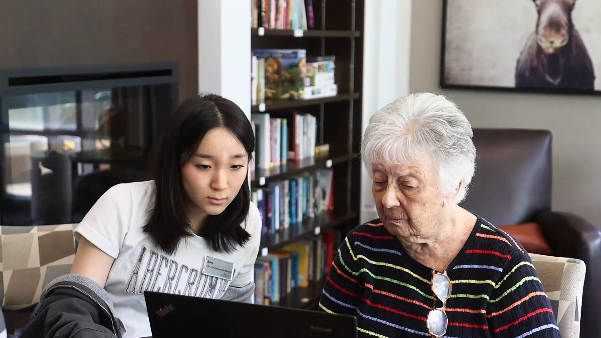
POLYGON ((251 0, 252 28, 315 28, 313 0, 251 0))

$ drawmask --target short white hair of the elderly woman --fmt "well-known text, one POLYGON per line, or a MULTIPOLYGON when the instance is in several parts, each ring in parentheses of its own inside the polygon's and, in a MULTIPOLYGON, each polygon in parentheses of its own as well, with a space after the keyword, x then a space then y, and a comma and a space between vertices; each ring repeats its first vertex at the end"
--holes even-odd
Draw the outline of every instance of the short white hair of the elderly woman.
MULTIPOLYGON (((372 164, 415 164, 430 156, 441 188, 459 204, 474 176, 476 148, 472 126, 455 103, 432 93, 410 94, 376 112, 365 129, 362 160, 373 178, 372 164)), ((423 163, 423 162, 421 162, 423 163)))

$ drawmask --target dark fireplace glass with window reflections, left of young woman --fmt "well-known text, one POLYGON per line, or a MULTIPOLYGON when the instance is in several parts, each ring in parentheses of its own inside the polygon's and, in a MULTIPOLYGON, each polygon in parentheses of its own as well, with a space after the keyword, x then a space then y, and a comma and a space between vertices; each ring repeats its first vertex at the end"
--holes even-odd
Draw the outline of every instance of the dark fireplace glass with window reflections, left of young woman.
POLYGON ((74 223, 109 185, 148 179, 160 86, 2 97, 2 225, 74 223))

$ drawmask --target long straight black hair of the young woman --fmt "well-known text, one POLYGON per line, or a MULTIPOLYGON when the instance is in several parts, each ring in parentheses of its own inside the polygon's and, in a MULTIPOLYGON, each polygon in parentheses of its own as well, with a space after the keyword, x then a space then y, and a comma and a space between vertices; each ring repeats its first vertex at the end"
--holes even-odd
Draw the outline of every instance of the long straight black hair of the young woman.
MULTIPOLYGON (((196 235, 186 214, 188 195, 183 188, 182 167, 192 159, 204 135, 218 127, 228 129, 242 143, 251 161, 255 138, 250 121, 236 103, 216 94, 201 94, 182 103, 156 149, 154 207, 144 232, 166 253, 174 253, 183 238, 196 235)), ((247 175, 224 212, 208 215, 203 222, 201 235, 212 250, 231 253, 249 241, 251 235, 243 229, 242 223, 248 215, 250 201, 247 175)))

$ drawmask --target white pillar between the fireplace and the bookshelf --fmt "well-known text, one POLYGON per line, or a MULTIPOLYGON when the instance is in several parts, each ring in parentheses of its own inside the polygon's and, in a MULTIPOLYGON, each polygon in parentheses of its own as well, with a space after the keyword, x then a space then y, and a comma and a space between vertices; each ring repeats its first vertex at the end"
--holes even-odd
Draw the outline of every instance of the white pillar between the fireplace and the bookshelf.
POLYGON ((198 91, 251 115, 251 1, 198 0, 198 91))

